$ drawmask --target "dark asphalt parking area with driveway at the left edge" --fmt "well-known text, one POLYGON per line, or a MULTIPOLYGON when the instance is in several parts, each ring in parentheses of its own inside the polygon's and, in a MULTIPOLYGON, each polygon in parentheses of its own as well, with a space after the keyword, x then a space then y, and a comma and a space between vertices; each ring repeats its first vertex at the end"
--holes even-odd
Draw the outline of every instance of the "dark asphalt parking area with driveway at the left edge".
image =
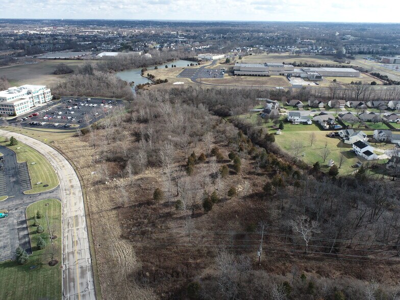
POLYGON ((17 163, 16 154, 7 147, 0 146, 3 160, 0 160, 0 195, 7 195, 0 202, 0 209, 7 209, 7 218, 0 219, 0 261, 15 259, 15 249, 21 246, 28 254, 32 254, 26 220, 26 208, 31 203, 45 198, 58 198, 59 189, 53 191, 25 195, 23 191, 31 189, 27 163, 17 163))

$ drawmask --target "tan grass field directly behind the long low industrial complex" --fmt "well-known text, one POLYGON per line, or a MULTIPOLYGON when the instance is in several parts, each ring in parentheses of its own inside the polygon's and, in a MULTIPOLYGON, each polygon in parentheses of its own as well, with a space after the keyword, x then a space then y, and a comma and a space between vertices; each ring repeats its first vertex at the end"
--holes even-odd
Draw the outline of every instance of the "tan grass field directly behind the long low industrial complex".
POLYGON ((285 62, 285 64, 296 63, 309 63, 309 64, 330 64, 338 65, 334 62, 335 58, 328 55, 288 55, 288 54, 260 54, 249 55, 241 59, 243 63, 264 63, 264 62, 285 62))

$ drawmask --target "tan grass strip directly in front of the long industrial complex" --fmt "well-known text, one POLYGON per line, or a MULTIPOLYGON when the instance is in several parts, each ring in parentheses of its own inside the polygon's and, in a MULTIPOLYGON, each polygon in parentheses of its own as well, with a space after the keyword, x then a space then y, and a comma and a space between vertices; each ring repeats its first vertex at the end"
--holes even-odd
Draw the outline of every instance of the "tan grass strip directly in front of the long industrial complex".
POLYGON ((283 76, 252 77, 252 76, 225 76, 223 79, 203 79, 203 83, 222 85, 247 85, 247 86, 269 86, 290 87, 289 81, 283 76))

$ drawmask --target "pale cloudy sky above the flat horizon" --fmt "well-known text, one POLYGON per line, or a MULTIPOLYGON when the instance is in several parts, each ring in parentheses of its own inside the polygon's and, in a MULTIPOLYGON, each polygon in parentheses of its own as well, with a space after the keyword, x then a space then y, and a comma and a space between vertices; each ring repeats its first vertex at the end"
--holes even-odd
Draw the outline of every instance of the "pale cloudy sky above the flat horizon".
POLYGON ((400 22, 387 0, 0 0, 0 18, 400 22))

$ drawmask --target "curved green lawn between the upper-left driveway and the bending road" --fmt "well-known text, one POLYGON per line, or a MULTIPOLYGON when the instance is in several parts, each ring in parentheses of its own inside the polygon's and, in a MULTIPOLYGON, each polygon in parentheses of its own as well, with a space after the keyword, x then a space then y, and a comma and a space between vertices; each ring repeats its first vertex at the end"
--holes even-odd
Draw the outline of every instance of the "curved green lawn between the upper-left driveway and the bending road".
POLYGON ((26 194, 40 193, 54 189, 58 186, 57 174, 53 167, 47 162, 47 160, 39 154, 35 149, 19 142, 15 146, 9 146, 8 142, 5 142, 4 138, 0 138, 0 144, 7 146, 17 154, 17 161, 28 164, 29 176, 31 178, 32 189, 25 191, 26 194), (34 162, 34 164, 32 164, 34 162), (41 182, 41 184, 36 184, 41 182), (46 186, 44 186, 46 185, 46 186))

